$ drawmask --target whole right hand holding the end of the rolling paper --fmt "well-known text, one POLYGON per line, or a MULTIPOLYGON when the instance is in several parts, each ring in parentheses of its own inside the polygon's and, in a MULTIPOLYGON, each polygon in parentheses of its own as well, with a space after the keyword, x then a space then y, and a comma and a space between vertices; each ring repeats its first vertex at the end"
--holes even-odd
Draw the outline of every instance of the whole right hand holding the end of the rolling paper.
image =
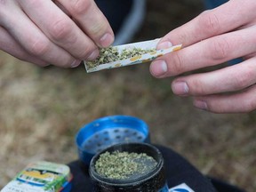
POLYGON ((163 37, 158 48, 183 44, 179 52, 150 65, 164 78, 244 57, 244 61, 207 73, 180 76, 172 92, 194 97, 194 105, 215 113, 250 112, 256 108, 256 1, 230 0, 206 11, 163 37))

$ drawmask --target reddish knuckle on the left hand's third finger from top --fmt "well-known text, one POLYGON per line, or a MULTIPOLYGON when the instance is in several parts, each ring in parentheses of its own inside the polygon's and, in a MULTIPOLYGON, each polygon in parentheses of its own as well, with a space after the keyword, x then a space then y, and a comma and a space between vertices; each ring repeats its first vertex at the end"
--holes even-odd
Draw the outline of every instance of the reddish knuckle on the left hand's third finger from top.
POLYGON ((36 38, 31 41, 31 44, 28 45, 28 51, 33 55, 42 56, 45 52, 48 52, 50 48, 50 42, 36 38))

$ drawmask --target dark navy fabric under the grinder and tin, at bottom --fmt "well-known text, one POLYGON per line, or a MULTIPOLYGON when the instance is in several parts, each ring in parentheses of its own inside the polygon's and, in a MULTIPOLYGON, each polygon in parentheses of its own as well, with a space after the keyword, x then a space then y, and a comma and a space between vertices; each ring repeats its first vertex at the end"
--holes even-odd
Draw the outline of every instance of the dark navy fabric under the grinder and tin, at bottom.
MULTIPOLYGON (((162 152, 165 162, 165 170, 167 176, 167 183, 169 188, 177 186, 185 182, 190 188, 196 192, 215 192, 211 180, 204 177, 203 174, 198 172, 196 168, 189 164, 179 154, 172 151, 170 148, 156 146, 162 152)), ((72 182, 73 188, 71 192, 91 192, 92 183, 88 174, 88 168, 84 167, 79 161, 71 162, 68 164, 71 172, 74 175, 72 182)))

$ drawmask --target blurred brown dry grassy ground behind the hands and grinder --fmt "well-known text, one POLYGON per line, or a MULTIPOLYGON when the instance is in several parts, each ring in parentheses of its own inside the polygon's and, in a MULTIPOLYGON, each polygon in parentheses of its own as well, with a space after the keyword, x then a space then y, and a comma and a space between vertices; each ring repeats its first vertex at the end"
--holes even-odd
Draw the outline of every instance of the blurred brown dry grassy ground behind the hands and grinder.
MULTIPOLYGON (((164 36, 204 10, 198 0, 148 0, 134 41, 164 36)), ((76 160, 75 135, 100 116, 137 116, 151 140, 179 152, 201 172, 256 191, 256 113, 217 115, 172 94, 172 78, 148 64, 86 74, 38 68, 0 52, 0 188, 36 160, 76 160)))

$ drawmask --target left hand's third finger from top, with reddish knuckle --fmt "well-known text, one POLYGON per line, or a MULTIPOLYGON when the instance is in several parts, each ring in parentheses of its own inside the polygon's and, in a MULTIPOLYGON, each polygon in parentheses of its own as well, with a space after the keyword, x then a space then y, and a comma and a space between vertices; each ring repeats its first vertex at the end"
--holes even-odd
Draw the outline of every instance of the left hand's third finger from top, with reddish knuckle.
POLYGON ((13 38, 27 52, 40 60, 60 67, 70 68, 80 64, 80 60, 75 59, 56 44, 52 44, 52 41, 47 36, 44 36, 42 31, 28 19, 24 12, 21 12, 14 5, 11 8, 15 10, 15 14, 6 12, 8 20, 3 20, 3 26, 6 30, 10 31, 13 38))

